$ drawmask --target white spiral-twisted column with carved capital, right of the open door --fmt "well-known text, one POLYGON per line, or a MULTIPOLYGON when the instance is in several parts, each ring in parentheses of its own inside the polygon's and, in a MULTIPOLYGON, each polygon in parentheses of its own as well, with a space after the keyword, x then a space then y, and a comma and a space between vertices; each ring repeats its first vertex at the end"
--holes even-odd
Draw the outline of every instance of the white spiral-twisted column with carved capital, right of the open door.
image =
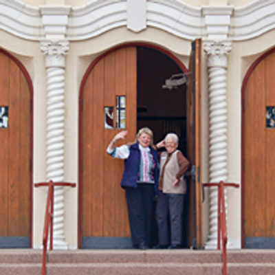
MULTIPOLYGON (((227 67, 228 54, 231 51, 231 43, 206 41, 203 49, 208 55, 208 90, 209 90, 209 118, 210 118, 210 154, 209 177, 210 182, 227 181, 227 67)), ((217 249, 217 188, 210 188, 210 230, 206 249, 217 249)), ((225 190, 225 208, 226 203, 225 190)), ((227 210, 226 210, 227 211, 227 210)))

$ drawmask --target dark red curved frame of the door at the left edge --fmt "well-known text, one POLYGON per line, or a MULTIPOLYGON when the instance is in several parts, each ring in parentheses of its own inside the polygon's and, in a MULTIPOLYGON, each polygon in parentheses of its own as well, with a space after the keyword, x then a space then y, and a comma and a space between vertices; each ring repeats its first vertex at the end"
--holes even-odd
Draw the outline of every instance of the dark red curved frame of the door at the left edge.
POLYGON ((25 76, 27 83, 28 83, 28 87, 30 90, 30 248, 32 248, 32 233, 33 233, 33 186, 32 186, 32 182, 33 182, 33 144, 34 144, 34 89, 32 86, 32 79, 30 78, 30 74, 28 73, 27 69, 25 68, 25 66, 14 56, 12 56, 12 54, 10 54, 9 52, 7 52, 6 50, 3 50, 3 48, 0 47, 0 53, 5 54, 5 56, 8 56, 8 58, 10 58, 12 61, 14 61, 14 63, 17 64, 17 66, 21 69, 21 72, 23 72, 23 75, 25 76))

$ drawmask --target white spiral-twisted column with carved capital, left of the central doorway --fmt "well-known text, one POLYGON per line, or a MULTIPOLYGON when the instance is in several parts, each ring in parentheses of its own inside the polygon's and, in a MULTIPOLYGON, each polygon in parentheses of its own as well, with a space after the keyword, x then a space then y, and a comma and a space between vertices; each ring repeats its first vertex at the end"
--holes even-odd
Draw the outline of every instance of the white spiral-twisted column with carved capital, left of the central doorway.
MULTIPOLYGON (((67 41, 42 41, 47 69, 47 181, 64 181, 64 87, 67 41)), ((64 234, 64 189, 54 187, 54 249, 68 249, 64 234)))

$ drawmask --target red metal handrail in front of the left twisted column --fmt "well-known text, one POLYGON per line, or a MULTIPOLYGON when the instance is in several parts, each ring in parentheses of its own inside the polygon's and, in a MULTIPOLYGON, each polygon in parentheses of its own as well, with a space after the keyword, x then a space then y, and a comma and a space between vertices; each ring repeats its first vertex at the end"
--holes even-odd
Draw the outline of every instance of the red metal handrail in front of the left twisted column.
POLYGON ((54 186, 70 186, 76 187, 76 184, 71 184, 68 182, 54 182, 50 180, 49 182, 41 182, 39 184, 34 184, 34 187, 48 186, 47 190, 47 204, 45 210, 45 221, 43 230, 43 259, 42 259, 42 275, 46 274, 46 261, 47 261, 47 239, 49 236, 50 228, 50 250, 52 250, 53 242, 53 220, 54 220, 54 186))

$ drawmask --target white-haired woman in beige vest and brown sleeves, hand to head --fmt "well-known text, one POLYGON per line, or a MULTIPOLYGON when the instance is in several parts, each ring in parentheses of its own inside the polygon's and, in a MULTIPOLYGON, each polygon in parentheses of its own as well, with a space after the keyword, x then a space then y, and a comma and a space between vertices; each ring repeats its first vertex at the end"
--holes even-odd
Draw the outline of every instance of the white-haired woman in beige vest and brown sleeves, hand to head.
POLYGON ((181 248, 182 214, 186 180, 184 173, 189 167, 188 160, 177 150, 179 138, 175 133, 168 133, 157 148, 164 147, 160 157, 159 193, 157 197, 157 226, 159 244, 154 248, 181 248), (170 216, 170 230, 168 217, 170 216), (170 238, 168 232, 170 231, 170 238), (169 245, 170 239, 170 246, 169 245))

